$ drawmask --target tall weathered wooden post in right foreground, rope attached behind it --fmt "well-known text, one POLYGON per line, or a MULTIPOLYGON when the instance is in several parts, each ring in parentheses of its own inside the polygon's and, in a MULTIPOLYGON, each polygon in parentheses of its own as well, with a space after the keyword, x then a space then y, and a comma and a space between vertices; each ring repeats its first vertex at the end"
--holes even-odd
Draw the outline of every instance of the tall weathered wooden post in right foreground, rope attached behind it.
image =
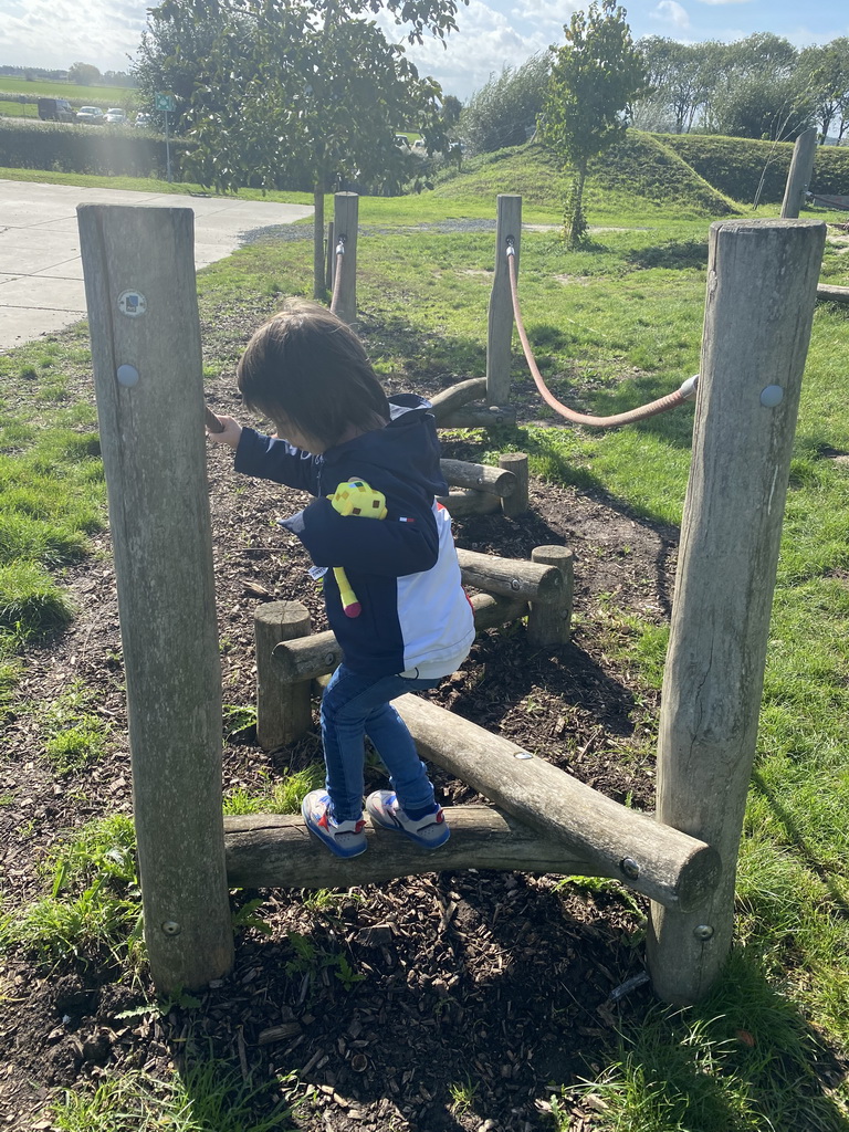
POLYGON ((701 908, 652 908, 664 1000, 705 994, 726 960, 757 737, 790 453, 825 225, 713 224, 693 463, 658 744, 658 817, 713 846, 701 908))

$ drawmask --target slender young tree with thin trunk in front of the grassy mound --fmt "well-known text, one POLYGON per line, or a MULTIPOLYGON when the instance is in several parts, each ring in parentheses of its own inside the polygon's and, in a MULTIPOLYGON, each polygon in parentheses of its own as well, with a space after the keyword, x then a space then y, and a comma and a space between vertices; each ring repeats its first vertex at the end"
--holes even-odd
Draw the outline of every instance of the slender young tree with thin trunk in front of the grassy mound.
POLYGON ((591 157, 621 137, 625 110, 646 86, 645 69, 614 0, 595 0, 576 11, 564 27, 566 43, 552 48, 554 65, 543 106, 541 139, 575 179, 566 203, 566 239, 578 243, 585 232, 583 192, 591 157))

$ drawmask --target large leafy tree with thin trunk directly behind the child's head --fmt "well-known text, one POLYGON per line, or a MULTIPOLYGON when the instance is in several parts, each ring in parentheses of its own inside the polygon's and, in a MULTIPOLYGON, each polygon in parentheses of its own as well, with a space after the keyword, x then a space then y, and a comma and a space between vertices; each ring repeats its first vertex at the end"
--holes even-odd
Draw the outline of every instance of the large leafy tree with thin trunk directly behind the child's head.
POLYGON ((456 29, 455 0, 164 0, 153 11, 177 40, 213 28, 185 115, 201 183, 311 189, 316 297, 325 293, 325 194, 353 183, 397 191, 421 175, 395 144, 402 127, 430 152, 448 146, 438 83, 365 18, 381 8, 410 43, 456 29))

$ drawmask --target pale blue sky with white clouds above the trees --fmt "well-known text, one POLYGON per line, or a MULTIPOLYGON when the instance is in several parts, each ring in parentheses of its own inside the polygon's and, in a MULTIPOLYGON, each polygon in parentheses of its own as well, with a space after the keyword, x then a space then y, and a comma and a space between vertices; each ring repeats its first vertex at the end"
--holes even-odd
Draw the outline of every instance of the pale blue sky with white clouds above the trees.
MULTIPOLYGON (((551 44, 589 0, 469 0, 460 3, 458 31, 447 48, 426 41, 409 49, 421 74, 446 94, 468 98, 490 75, 517 67, 551 44)), ((797 48, 849 35, 847 0, 624 0, 634 38, 664 35, 684 43, 724 43, 772 32, 797 48)), ((127 70, 146 22, 138 0, 0 0, 0 65, 67 68, 94 63, 127 70)), ((392 36, 392 25, 386 24, 392 36)))

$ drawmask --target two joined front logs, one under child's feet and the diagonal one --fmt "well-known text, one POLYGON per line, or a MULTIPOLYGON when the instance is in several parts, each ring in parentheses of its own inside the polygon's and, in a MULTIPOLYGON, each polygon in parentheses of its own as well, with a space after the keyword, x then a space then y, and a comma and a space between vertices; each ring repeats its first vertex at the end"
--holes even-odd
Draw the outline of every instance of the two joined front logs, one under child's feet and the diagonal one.
POLYGON ((456 868, 607 876, 680 911, 697 908, 721 867, 710 846, 606 798, 566 771, 415 695, 394 701, 421 754, 497 809, 455 806, 432 855, 368 827, 369 852, 331 858, 299 816, 225 821, 228 881, 240 887, 340 887, 456 868))

